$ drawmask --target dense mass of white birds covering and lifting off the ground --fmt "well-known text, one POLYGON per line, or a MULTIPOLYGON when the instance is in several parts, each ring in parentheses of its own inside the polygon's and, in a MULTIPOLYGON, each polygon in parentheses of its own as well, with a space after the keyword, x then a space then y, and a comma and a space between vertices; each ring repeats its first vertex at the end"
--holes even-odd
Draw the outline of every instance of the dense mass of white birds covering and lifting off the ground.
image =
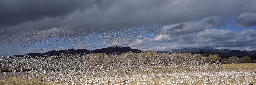
MULTIPOLYGON (((251 64, 255 68, 255 64, 251 64)), ((40 57, 1 57, 0 80, 22 78, 51 84, 96 85, 250 85, 256 69, 231 70, 202 54, 123 53, 40 57), (5 70, 4 70, 5 69, 5 70), (7 70, 9 72, 7 72, 7 70), (3 72, 6 71, 6 72, 3 72)))

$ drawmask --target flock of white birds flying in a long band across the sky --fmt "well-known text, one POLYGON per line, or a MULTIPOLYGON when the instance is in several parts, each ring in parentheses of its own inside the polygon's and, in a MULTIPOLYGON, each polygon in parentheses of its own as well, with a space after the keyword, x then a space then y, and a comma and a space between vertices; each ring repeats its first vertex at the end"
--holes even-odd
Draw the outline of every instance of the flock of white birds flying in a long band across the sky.
MULTIPOLYGON (((49 19, 46 19, 49 21, 49 19)), ((153 39, 161 36, 162 40, 182 40, 186 34, 195 34, 200 29, 163 30, 161 25, 140 26, 133 28, 15 28, 0 30, 0 49, 21 51, 31 48, 102 48, 123 46, 140 39, 153 39), (174 33, 173 31, 181 32, 174 33), (168 35, 169 37, 164 37, 168 35)), ((202 31, 204 32, 204 31, 202 31)), ((188 36, 188 35, 187 35, 188 36)), ((187 40, 184 40, 187 41, 187 40)), ((170 41, 171 42, 171 41, 170 41)), ((40 49, 41 48, 41 49, 40 49)), ((6 54, 10 55, 12 53, 6 54)))

